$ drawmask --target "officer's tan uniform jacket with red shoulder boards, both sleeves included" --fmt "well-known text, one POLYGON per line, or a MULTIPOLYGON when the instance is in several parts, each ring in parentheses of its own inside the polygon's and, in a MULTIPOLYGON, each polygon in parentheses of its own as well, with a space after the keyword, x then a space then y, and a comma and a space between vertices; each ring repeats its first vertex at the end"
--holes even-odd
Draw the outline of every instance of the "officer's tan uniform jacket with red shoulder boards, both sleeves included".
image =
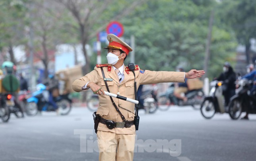
MULTIPOLYGON (((108 87, 111 93, 117 94, 120 93, 120 96, 125 96, 127 98, 135 99, 135 89, 134 89, 134 75, 132 71, 129 71, 127 74, 125 71, 124 79, 121 83, 117 79, 115 71, 112 65, 108 65, 108 67, 102 67, 104 70, 104 74, 106 78, 113 79, 108 82, 108 87)), ((126 68, 126 66, 125 66, 126 68)), ((138 67, 139 68, 139 67, 138 67)), ((125 69, 124 69, 125 70, 125 69)), ((137 82, 137 88, 139 88, 140 84, 154 84, 154 83, 162 83, 162 82, 184 82, 185 81, 185 73, 184 72, 173 72, 173 71, 149 71, 149 70, 139 70, 135 71, 135 81, 137 82)), ((82 87, 87 82, 94 82, 102 87, 104 91, 107 91, 105 82, 103 80, 102 72, 100 67, 94 67, 94 70, 88 73, 87 75, 77 79, 73 82, 72 88, 76 92, 81 92, 82 87)), ((120 105, 121 107, 128 109, 134 113, 135 105, 133 103, 119 100, 117 98, 113 98, 115 104, 120 105)), ((134 120, 134 114, 119 108, 121 113, 124 115, 126 120, 134 120)), ((97 110, 97 114, 99 114, 104 119, 109 119, 116 122, 123 122, 121 116, 116 111, 114 105, 110 100, 110 96, 99 96, 99 107, 97 110)), ((116 134, 135 134, 135 125, 130 128, 113 128, 109 129, 106 125, 99 123, 98 130, 115 132, 116 134)))

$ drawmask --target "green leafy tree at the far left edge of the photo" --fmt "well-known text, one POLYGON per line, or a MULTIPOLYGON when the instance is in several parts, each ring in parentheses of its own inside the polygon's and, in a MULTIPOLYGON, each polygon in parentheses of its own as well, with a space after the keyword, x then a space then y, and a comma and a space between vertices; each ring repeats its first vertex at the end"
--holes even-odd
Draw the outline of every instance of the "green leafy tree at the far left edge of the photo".
MULTIPOLYGON (((25 0, 0 1, 0 49, 7 48, 10 61, 17 64, 14 57, 14 46, 25 44, 24 26, 27 8, 25 0)), ((3 57, 3 56, 2 56, 3 57)))

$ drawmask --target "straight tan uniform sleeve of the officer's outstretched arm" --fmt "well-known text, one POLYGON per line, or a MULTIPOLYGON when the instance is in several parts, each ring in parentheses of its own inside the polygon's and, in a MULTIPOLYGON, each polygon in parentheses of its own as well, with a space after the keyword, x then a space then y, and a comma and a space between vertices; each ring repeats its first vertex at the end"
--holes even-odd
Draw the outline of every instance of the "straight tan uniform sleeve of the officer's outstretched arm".
POLYGON ((185 82, 185 72, 139 70, 140 84, 153 84, 163 82, 185 82))

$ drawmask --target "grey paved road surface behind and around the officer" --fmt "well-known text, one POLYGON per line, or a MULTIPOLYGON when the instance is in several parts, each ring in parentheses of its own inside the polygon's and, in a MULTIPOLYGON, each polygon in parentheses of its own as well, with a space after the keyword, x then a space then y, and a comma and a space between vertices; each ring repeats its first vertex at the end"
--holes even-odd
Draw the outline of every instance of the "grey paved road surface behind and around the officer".
MULTIPOLYGON (((204 119, 191 107, 139 112, 134 161, 255 161, 256 115, 204 119)), ((97 161, 92 112, 42 113, 0 122, 0 161, 97 161)))

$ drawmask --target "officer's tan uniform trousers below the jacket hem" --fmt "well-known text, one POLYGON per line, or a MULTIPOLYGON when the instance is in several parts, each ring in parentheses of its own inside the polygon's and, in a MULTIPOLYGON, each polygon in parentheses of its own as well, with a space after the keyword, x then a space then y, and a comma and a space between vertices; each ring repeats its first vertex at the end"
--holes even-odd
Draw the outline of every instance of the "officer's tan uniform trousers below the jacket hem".
POLYGON ((97 132, 99 161, 133 161, 135 134, 97 132))

